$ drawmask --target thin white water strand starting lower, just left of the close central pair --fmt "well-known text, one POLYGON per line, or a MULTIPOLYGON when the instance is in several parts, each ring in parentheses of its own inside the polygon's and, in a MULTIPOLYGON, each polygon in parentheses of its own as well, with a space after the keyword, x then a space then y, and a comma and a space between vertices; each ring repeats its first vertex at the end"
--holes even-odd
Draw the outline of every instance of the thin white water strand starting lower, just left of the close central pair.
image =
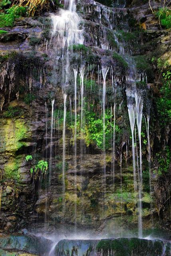
POLYGON ((65 142, 65 137, 66 137, 66 99, 67 99, 67 94, 63 92, 63 97, 64 97, 64 126, 63 126, 63 158, 62 158, 62 183, 63 183, 63 194, 65 193, 65 158, 66 158, 66 142, 65 142))

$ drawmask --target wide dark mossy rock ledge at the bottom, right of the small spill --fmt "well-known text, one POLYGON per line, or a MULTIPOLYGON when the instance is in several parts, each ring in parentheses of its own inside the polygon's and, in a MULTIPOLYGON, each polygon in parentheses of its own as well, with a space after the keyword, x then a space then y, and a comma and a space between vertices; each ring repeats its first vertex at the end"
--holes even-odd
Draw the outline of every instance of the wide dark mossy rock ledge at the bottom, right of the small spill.
POLYGON ((61 240, 56 248, 56 256, 161 256, 170 255, 170 244, 161 240, 119 238, 113 240, 61 240))

